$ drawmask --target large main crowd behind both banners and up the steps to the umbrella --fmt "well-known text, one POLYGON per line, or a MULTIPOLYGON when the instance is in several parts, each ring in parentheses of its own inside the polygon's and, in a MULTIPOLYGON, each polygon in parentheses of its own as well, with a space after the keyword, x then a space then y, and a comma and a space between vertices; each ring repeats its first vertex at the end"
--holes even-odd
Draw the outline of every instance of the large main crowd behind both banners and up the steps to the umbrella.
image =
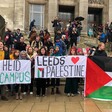
MULTIPOLYGON (((60 94, 60 79, 34 78, 34 66, 36 56, 64 56, 64 55, 101 55, 107 56, 105 44, 100 43, 98 48, 92 47, 87 49, 77 48, 77 39, 82 30, 81 22, 69 22, 69 27, 65 29, 57 28, 57 19, 52 21, 54 27, 54 42, 47 29, 36 32, 32 27, 29 34, 29 42, 26 44, 20 29, 12 33, 7 29, 4 37, 4 43, 0 41, 0 60, 30 60, 31 61, 31 83, 30 84, 11 84, 0 85, 1 99, 7 101, 5 94, 6 88, 15 94, 16 100, 22 100, 23 94, 28 92, 34 94, 34 84, 36 87, 36 96, 45 96, 46 88, 51 86, 51 94, 60 94), (69 41, 70 40, 70 41, 69 41), (4 45, 3 45, 4 44, 4 45), (75 45, 74 45, 75 44, 75 45), (36 82, 36 83, 34 83, 36 82), (56 89, 56 90, 55 90, 56 89)), ((66 78, 64 92, 67 96, 78 94, 79 78, 66 78)))

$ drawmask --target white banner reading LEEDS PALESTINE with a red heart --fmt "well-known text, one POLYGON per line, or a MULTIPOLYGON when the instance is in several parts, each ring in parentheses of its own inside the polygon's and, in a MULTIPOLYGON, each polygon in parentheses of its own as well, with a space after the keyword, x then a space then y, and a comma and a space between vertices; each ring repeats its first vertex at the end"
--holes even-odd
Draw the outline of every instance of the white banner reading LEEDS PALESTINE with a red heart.
POLYGON ((38 56, 35 58, 35 78, 85 77, 85 56, 38 56))

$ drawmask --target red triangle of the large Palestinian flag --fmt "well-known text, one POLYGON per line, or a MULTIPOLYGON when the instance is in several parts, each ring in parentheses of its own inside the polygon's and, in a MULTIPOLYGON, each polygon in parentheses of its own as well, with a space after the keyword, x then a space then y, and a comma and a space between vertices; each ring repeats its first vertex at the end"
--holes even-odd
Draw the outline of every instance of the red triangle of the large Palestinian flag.
POLYGON ((87 58, 87 73, 85 80, 85 96, 88 96, 92 92, 98 90, 112 78, 106 74, 96 63, 87 58))

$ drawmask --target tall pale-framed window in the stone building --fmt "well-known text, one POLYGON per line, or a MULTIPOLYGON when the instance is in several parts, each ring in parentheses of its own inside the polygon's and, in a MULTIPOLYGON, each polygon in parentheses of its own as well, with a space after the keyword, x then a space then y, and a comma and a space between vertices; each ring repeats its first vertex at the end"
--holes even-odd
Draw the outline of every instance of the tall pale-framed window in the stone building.
POLYGON ((30 20, 35 19, 35 25, 38 30, 44 27, 44 5, 30 4, 30 20))

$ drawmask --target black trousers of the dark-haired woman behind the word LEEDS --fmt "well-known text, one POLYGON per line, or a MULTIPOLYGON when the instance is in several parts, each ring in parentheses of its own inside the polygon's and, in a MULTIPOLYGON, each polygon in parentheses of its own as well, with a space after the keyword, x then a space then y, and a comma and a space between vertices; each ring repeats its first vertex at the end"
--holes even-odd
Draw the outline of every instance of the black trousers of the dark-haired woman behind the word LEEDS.
POLYGON ((36 79, 36 88, 37 88, 37 95, 45 95, 46 90, 46 79, 44 78, 37 78, 36 79))

